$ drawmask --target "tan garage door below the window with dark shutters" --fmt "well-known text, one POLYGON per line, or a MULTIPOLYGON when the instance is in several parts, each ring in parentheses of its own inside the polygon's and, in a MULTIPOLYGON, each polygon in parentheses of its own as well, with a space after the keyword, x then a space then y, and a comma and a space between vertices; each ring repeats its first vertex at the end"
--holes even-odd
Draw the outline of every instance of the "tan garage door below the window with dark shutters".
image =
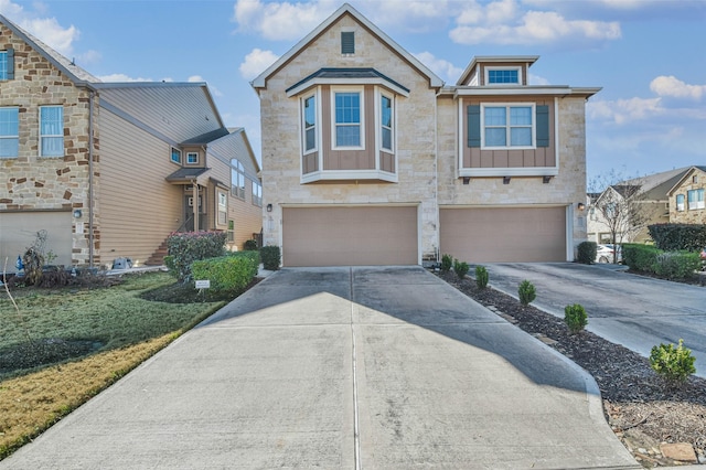
POLYGON ((441 209, 441 254, 468 263, 566 261, 566 207, 441 209))

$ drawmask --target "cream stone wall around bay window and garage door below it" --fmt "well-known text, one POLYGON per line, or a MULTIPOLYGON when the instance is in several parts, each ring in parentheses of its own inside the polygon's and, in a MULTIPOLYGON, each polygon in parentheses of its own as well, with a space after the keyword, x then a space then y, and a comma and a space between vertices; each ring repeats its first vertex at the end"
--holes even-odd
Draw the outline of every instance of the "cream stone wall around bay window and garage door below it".
POLYGON ((438 247, 436 205, 436 97, 428 79, 384 46, 351 17, 343 17, 286 64, 260 92, 264 244, 281 246, 282 204, 415 204, 419 206, 421 257, 438 247), (355 31, 355 55, 341 55, 341 31, 355 31), (410 89, 397 97, 397 183, 301 184, 299 102, 285 90, 321 67, 374 67, 410 89))

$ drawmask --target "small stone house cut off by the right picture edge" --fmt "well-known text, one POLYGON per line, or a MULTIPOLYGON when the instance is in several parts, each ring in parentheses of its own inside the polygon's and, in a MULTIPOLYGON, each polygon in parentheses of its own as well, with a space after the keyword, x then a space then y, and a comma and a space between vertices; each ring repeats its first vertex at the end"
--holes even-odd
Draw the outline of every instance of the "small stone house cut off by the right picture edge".
POLYGON ((670 222, 706 224, 706 167, 692 167, 670 189, 670 222))

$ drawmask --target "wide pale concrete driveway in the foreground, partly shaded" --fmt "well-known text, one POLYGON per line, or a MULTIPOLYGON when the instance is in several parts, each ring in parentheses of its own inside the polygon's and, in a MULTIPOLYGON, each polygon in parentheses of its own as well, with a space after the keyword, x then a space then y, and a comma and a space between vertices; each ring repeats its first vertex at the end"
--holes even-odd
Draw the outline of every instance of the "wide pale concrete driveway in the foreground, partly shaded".
POLYGON ((640 467, 595 382, 421 268, 284 269, 0 462, 640 467))

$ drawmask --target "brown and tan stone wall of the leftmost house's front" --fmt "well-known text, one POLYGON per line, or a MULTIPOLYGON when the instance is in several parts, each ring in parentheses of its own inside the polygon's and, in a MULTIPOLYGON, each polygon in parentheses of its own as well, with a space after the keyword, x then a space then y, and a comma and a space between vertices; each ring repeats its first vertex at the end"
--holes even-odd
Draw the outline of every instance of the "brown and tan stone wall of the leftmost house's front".
MULTIPOLYGON (((0 106, 20 108, 20 149, 15 159, 0 159, 4 184, 0 185, 0 212, 72 211, 83 216, 73 221, 72 263, 87 265, 88 250, 88 118, 89 92, 72 81, 40 53, 0 25, 0 49, 14 49, 14 79, 0 82, 0 106), (64 107, 63 158, 39 156, 39 107, 64 107), (78 224, 82 227, 77 226, 78 224), (78 232, 78 233, 77 233, 78 232), (83 233, 81 233, 83 232, 83 233)), ((98 105, 94 105, 97 116, 98 105)), ((97 121, 97 119, 96 119, 97 121)), ((95 145, 98 146, 97 129, 95 145)), ((94 151, 94 174, 98 174, 94 151)), ((98 183, 98 178, 94 178, 98 183)), ((94 206, 94 259, 99 248, 98 207, 94 206)), ((51 227, 47 227, 51 228, 51 227)), ((28 241, 31 244, 32 239, 28 241)))

